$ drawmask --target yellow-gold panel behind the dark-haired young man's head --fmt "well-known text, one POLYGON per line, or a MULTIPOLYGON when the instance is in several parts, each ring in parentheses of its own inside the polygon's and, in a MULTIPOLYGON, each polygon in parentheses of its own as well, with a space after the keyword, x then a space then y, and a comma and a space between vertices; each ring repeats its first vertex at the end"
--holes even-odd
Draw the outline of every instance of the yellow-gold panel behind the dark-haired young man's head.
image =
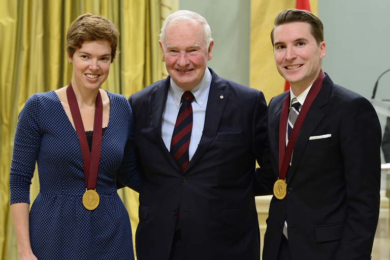
MULTIPOLYGON (((261 90, 267 102, 284 91, 285 80, 275 66, 271 30, 275 17, 284 9, 295 8, 297 0, 251 0, 249 86, 261 90)), ((317 0, 309 0, 317 15, 317 0)))

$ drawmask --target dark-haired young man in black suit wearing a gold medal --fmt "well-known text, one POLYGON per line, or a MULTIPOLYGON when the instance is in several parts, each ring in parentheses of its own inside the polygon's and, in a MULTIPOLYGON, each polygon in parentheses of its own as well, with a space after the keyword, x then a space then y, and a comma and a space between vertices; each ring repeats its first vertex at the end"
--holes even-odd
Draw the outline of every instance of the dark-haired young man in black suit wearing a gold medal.
POLYGON ((268 108, 262 170, 276 182, 263 259, 368 260, 379 215, 377 114, 321 70, 325 43, 316 16, 282 11, 271 40, 290 90, 268 108))

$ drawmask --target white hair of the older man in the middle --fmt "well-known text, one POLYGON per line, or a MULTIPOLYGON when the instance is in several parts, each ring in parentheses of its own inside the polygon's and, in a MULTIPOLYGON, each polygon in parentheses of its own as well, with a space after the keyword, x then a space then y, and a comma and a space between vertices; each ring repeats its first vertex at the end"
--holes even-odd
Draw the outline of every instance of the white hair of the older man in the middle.
POLYGON ((167 31, 167 28, 171 23, 180 23, 180 22, 189 22, 189 21, 197 21, 203 25, 205 31, 206 45, 207 47, 209 47, 210 42, 212 40, 210 25, 207 23, 206 19, 202 15, 187 10, 179 10, 177 12, 174 12, 173 14, 170 14, 167 17, 167 19, 165 19, 163 27, 161 27, 161 33, 159 34, 161 45, 165 46, 164 45, 165 32, 167 31))

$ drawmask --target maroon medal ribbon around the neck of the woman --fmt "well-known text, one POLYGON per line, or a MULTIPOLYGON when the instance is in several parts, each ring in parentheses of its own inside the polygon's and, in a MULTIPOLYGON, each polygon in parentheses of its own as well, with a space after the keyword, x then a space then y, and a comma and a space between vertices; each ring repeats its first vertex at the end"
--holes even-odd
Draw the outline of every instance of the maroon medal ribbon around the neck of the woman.
POLYGON ((73 122, 75 124, 77 136, 79 137, 79 143, 81 148, 81 155, 83 158, 85 186, 87 189, 96 188, 96 180, 98 180, 98 170, 100 161, 100 152, 102 148, 102 126, 103 126, 103 101, 100 91, 96 96, 95 101, 95 115, 93 120, 93 136, 92 136, 92 149, 89 154, 89 147, 87 142, 87 136, 85 135, 83 120, 81 119, 80 108, 77 104, 75 92, 72 88, 72 83, 67 87, 67 97, 69 108, 73 122))

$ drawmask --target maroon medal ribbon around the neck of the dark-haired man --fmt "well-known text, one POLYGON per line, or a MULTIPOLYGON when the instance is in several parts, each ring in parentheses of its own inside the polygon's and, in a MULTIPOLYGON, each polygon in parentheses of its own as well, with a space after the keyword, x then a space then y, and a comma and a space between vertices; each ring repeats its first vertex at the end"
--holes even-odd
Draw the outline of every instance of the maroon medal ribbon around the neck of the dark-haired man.
POLYGON ((290 103, 290 94, 287 95, 284 100, 282 112, 280 114, 279 121, 279 179, 286 179, 287 168, 290 163, 291 154, 293 153, 294 143, 297 139, 299 130, 302 127, 303 121, 305 120, 307 111, 309 110, 313 100, 317 96, 322 86, 322 80, 325 77, 325 73, 320 70, 317 79, 313 82, 309 93, 302 105, 299 112, 297 121, 294 124, 293 131, 291 131, 290 137, 286 147, 286 130, 287 130, 287 118, 288 118, 288 107, 290 103))

